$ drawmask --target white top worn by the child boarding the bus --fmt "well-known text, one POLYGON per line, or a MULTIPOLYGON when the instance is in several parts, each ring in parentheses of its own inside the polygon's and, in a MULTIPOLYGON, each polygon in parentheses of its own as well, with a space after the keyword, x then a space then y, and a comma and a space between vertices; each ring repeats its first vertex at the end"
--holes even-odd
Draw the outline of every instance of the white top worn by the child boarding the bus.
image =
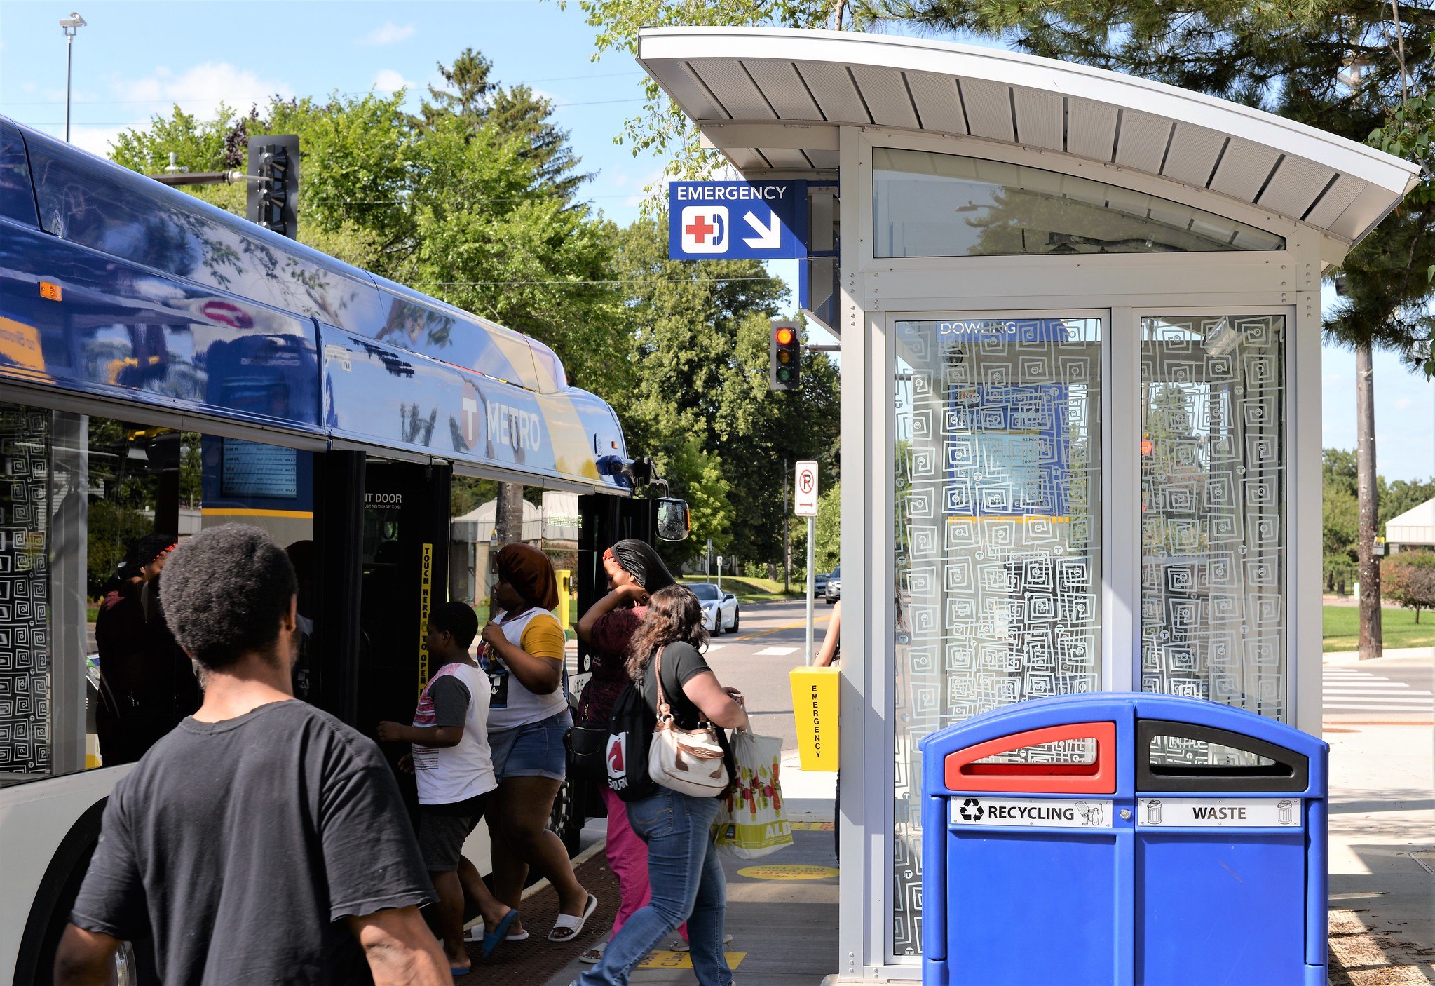
POLYGON ((420 805, 451 805, 486 794, 498 787, 494 756, 488 749, 488 675, 481 667, 455 662, 443 665, 419 696, 413 712, 415 726, 435 726, 433 699, 429 689, 441 677, 461 680, 469 693, 464 739, 458 746, 422 746, 413 743, 413 778, 419 785, 420 805))

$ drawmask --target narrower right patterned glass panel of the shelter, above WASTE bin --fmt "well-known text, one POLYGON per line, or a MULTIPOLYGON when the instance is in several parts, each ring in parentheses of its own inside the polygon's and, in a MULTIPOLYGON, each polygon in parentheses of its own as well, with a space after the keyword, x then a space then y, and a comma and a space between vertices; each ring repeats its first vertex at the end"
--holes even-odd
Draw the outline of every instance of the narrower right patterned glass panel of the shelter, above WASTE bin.
MULTIPOLYGON (((1286 320, 1141 320, 1141 687, 1284 719, 1286 320)), ((1168 762, 1248 753, 1168 743, 1168 762)))

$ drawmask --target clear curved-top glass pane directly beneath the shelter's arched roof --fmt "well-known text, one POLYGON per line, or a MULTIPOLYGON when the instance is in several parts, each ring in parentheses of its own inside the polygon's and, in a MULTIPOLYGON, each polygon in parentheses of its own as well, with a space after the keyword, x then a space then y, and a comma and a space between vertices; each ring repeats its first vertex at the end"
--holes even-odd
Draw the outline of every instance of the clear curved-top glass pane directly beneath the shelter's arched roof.
POLYGON ((1284 250, 1236 220, 1042 168, 877 148, 875 257, 1284 250))

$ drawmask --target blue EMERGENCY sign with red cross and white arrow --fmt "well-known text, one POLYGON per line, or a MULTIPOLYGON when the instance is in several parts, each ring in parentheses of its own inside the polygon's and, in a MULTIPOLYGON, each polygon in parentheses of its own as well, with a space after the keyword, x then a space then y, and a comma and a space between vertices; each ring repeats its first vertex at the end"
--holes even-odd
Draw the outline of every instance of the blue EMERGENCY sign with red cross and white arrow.
POLYGON ((670 260, 806 257, 805 181, 674 181, 667 187, 670 260))

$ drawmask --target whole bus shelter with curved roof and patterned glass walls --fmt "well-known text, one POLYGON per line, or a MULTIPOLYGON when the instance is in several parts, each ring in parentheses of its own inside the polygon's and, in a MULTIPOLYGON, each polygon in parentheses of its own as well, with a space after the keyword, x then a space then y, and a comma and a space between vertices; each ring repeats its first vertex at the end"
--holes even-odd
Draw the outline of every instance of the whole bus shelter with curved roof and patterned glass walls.
POLYGON ((1320 277, 1416 169, 990 49, 676 27, 643 30, 639 62, 742 175, 828 197, 809 214, 837 248, 842 359, 834 972, 918 979, 923 736, 1099 690, 1320 732, 1320 277))

